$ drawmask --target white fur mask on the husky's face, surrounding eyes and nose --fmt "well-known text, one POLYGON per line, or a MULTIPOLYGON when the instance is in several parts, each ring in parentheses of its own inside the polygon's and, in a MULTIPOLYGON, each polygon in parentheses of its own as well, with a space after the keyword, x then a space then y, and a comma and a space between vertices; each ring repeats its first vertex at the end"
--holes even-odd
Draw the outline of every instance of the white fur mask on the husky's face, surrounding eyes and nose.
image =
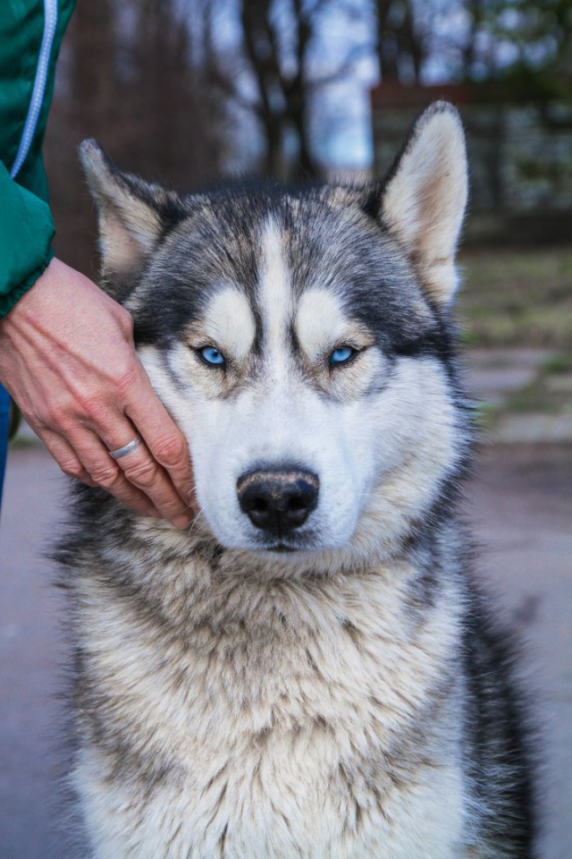
POLYGON ((282 543, 315 552, 353 540, 362 557, 374 546, 390 551, 454 464, 456 417, 442 365, 402 358, 390 372, 379 348, 365 344, 357 360, 332 370, 330 350, 365 338, 363 327, 325 289, 302 293, 295 305, 272 222, 262 234, 259 272, 261 353, 252 352, 248 299, 233 287, 214 293, 193 330, 212 338, 235 369, 200 365, 186 344, 166 365, 153 347, 142 353, 189 440, 206 523, 226 548, 272 551, 275 538, 241 511, 237 484, 253 471, 305 470, 319 480, 318 505, 282 543))

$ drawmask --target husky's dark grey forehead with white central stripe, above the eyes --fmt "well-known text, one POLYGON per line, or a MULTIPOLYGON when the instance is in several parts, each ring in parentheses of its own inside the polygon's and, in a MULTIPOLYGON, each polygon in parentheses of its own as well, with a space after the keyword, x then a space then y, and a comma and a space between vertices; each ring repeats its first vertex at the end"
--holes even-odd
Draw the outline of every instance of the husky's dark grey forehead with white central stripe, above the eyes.
POLYGON ((151 289, 164 295, 171 336, 212 318, 229 290, 246 298, 249 321, 245 302, 237 318, 248 327, 250 319, 268 328, 298 317, 301 330, 316 334, 322 320, 333 330, 332 320, 341 328, 345 316, 379 332, 427 315, 399 247, 332 191, 229 194, 190 207, 151 265, 147 296, 151 289))

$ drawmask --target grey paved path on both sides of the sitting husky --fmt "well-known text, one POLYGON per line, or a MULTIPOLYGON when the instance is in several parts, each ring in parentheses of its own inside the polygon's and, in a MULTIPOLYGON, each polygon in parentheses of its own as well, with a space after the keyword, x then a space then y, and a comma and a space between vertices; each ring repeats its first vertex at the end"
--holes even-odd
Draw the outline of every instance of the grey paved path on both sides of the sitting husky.
MULTIPOLYGON (((0 859, 80 859, 55 789, 63 644, 40 550, 57 529, 62 480, 39 448, 9 458, 0 529, 0 859)), ((529 639, 547 760, 539 859, 572 859, 572 447, 490 447, 467 501, 481 567, 529 639)), ((159 859, 159 857, 157 857, 159 859)))

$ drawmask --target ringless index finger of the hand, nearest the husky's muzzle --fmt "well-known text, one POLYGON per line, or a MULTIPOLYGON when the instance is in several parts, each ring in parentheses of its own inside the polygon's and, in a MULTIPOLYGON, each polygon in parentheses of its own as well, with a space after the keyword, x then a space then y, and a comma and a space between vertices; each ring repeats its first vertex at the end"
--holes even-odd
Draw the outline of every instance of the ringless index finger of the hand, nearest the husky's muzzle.
POLYGON ((151 387, 142 367, 139 390, 135 387, 130 389, 125 413, 145 440, 153 458, 169 474, 182 500, 197 507, 187 441, 151 387))

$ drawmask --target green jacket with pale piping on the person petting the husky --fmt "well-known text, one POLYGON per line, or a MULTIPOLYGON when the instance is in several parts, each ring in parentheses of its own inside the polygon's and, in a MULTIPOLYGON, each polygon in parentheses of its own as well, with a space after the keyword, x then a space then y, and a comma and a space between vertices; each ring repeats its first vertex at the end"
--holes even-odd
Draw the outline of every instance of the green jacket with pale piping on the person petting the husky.
POLYGON ((0 0, 0 317, 54 256, 42 141, 74 0, 0 0))

